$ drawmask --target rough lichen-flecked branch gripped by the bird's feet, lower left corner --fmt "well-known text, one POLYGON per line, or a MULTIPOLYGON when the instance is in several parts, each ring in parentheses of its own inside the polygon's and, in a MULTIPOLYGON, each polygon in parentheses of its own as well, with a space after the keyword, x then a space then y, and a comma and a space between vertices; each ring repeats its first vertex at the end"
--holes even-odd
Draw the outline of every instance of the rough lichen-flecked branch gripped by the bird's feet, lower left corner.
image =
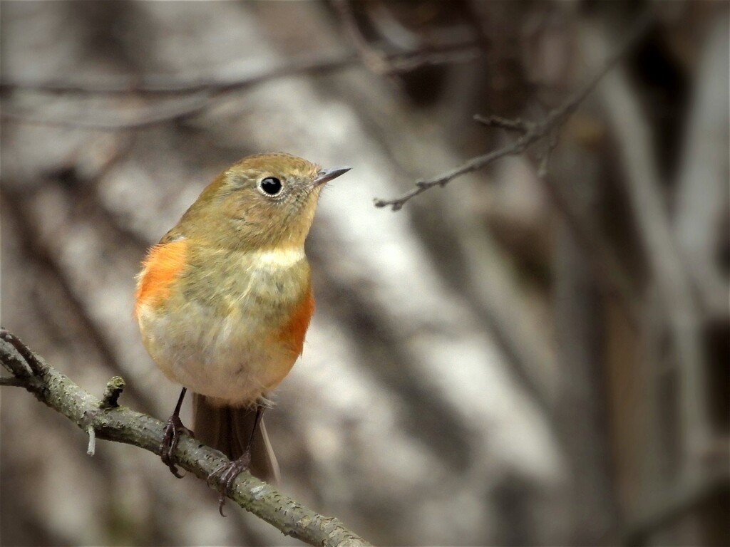
MULTIPOLYGON (((14 376, 12 383, 11 379, 3 379, 1 384, 22 385, 42 403, 77 424, 82 431, 93 431, 98 438, 132 444, 160 454, 163 422, 131 408, 116 406, 115 397, 123 387, 120 379, 112 379, 112 385, 107 386, 108 397, 104 404, 104 401, 93 397, 68 376, 48 365, 18 337, 2 327, 0 363, 14 376), (113 403, 110 397, 113 397, 113 403)), ((180 467, 204 480, 228 461, 219 451, 201 445, 188 435, 182 436, 174 456, 180 467)), ((283 534, 312 546, 369 546, 366 540, 345 528, 339 519, 322 516, 305 508, 249 473, 242 473, 236 479, 228 497, 246 511, 280 529, 283 534)))

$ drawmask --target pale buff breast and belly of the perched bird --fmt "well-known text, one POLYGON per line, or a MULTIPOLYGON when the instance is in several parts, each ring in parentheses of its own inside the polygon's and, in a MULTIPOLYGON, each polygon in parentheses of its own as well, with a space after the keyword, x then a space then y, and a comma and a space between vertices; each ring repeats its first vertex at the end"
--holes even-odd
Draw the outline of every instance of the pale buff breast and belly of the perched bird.
POLYGON ((311 298, 303 249, 203 252, 179 283, 164 306, 138 312, 145 346, 166 376, 245 405, 291 370, 301 345, 281 332, 311 298))

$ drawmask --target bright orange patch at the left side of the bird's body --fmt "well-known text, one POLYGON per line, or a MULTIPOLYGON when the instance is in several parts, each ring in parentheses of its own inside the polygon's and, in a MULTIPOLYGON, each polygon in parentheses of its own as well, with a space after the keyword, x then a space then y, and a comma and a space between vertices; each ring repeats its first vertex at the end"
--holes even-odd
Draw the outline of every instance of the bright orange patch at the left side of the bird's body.
POLYGON ((155 305, 170 292, 170 284, 185 266, 185 248, 188 246, 185 239, 160 243, 147 253, 142 271, 137 278, 137 303, 134 306, 134 315, 139 315, 139 309, 145 305, 155 305))

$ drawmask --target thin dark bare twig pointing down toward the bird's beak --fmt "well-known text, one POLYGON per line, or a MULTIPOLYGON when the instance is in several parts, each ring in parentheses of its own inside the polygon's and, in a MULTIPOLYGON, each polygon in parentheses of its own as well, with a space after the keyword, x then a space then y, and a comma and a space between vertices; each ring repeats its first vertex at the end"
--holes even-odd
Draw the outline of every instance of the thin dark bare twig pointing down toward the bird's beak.
POLYGON ((401 195, 399 198, 393 199, 382 199, 375 198, 374 204, 376 207, 387 207, 390 206, 393 211, 399 211, 403 208, 404 204, 407 203, 416 195, 429 190, 435 186, 444 187, 456 177, 479 171, 485 168, 491 163, 504 158, 505 156, 518 155, 527 150, 533 144, 541 141, 554 131, 558 131, 559 128, 568 120, 570 115, 577 109, 578 106, 585 100, 585 98, 596 88, 596 85, 603 79, 603 77, 623 58, 624 55, 630 50, 631 46, 637 41, 639 36, 642 36, 647 30, 649 24, 653 22, 653 15, 649 12, 647 15, 637 20, 634 29, 629 32, 626 39, 623 40, 623 44, 617 48, 613 55, 610 55, 602 69, 596 72, 596 74, 588 80, 588 82, 577 90, 571 97, 566 99, 560 106, 548 112, 548 115, 538 122, 526 123, 522 120, 512 120, 512 122, 505 122, 504 118, 500 117, 483 117, 480 118, 480 123, 488 122, 493 126, 500 128, 520 128, 524 126, 526 131, 515 141, 510 144, 505 144, 496 150, 492 150, 485 155, 471 158, 463 163, 461 166, 446 171, 438 176, 434 176, 431 179, 421 179, 415 183, 415 187, 408 190, 406 193, 401 195), (496 121, 496 120, 499 120, 496 121))

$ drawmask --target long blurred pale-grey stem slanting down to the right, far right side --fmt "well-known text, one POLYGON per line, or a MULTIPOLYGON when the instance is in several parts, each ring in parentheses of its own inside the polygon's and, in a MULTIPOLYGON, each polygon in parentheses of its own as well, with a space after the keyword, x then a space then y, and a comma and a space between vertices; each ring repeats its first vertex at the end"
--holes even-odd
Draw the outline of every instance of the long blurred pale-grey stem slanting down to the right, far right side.
MULTIPOLYGON (((597 26, 589 26, 583 32, 581 45, 588 58, 598 58, 609 44, 610 38, 597 26)), ((639 244, 647 257, 672 336, 679 372, 678 408, 683 442, 683 468, 679 474, 686 479, 701 473, 698 453, 712 438, 706 403, 710 384, 702 344, 701 312, 675 241, 661 175, 653 160, 656 158, 653 138, 626 71, 616 71, 607 78, 602 99, 626 169, 625 190, 639 244)))

